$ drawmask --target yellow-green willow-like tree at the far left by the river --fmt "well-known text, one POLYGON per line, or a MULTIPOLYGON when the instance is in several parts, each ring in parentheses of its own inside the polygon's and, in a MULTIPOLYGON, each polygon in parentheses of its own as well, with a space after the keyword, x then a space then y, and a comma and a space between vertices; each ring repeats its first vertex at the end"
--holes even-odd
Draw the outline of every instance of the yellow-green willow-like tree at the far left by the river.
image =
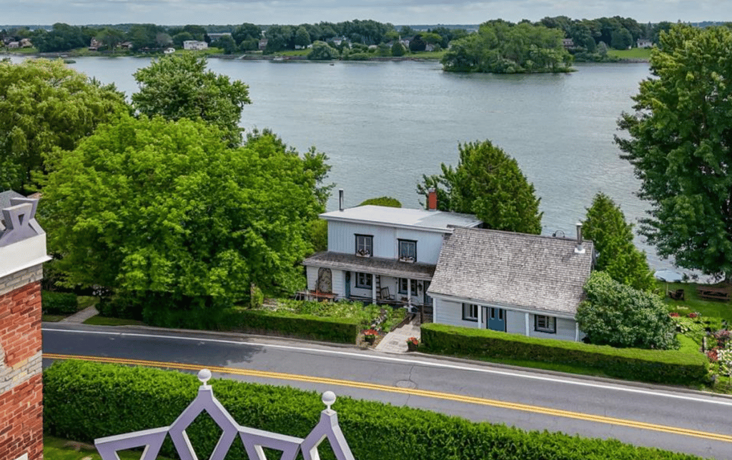
POLYGON ((113 86, 61 60, 0 61, 0 189, 34 191, 54 148, 72 150, 97 125, 129 110, 113 86))

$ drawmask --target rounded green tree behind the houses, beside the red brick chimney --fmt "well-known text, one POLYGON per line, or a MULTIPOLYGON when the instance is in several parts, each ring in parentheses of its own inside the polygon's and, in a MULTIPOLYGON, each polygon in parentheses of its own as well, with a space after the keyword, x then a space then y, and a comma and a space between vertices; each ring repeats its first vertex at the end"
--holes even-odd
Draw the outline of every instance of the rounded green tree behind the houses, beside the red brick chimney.
POLYGON ((540 198, 518 162, 490 140, 460 144, 458 150, 458 165, 443 163, 441 175, 422 176, 417 192, 427 196, 436 189, 438 209, 475 214, 495 230, 541 233, 540 198))

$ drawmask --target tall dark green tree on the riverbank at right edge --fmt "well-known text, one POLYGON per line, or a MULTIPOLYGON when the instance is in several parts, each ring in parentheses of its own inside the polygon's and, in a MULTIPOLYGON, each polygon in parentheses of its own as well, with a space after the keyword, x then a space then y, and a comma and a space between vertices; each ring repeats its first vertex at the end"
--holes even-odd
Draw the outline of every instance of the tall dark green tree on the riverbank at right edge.
POLYGON ((732 279, 732 31, 676 25, 616 137, 651 204, 641 233, 676 265, 732 279))

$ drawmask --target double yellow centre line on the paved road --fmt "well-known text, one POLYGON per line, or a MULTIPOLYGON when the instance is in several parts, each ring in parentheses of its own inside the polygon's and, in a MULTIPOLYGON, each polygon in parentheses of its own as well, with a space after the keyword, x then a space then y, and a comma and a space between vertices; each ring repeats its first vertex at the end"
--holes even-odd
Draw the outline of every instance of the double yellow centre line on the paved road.
POLYGON ((635 429, 647 429, 652 431, 662 431, 670 434, 682 434, 684 436, 699 437, 705 440, 732 442, 732 436, 727 434, 710 433, 706 431, 695 431, 691 429, 679 428, 676 426, 656 425, 654 423, 646 423, 640 421, 632 421, 623 418, 605 417, 602 415, 584 414, 582 412, 572 412, 569 410, 552 409, 550 407, 530 406, 528 404, 520 404, 515 402, 498 401, 496 399, 477 398, 475 396, 463 396, 452 393, 441 393, 439 391, 419 390, 416 388, 398 388, 387 385, 378 385, 368 382, 354 382, 352 380, 329 379, 326 377, 310 377, 307 375, 285 374, 282 372, 255 371, 252 369, 236 369, 231 367, 220 366, 202 366, 201 364, 187 363, 166 363, 161 361, 145 361, 137 359, 124 358, 102 358, 97 356, 82 355, 57 355, 55 353, 43 353, 43 358, 49 359, 79 359, 83 361, 96 361, 99 363, 116 363, 130 364, 135 366, 147 367, 163 367, 168 369, 184 369, 190 371, 199 371, 203 367, 211 372, 219 372, 221 374, 245 375, 250 377, 263 377, 275 380, 291 380, 295 382, 321 383, 326 385, 340 385, 350 388, 362 388, 364 390, 386 391, 389 393, 401 393, 410 396, 422 396, 425 398, 445 399, 447 401, 466 402, 468 404, 479 404, 483 406, 500 407, 502 409, 520 410, 523 412, 532 412, 542 415, 553 415, 555 417, 574 418, 582 421, 591 421, 597 423, 608 423, 616 426, 627 426, 635 429))

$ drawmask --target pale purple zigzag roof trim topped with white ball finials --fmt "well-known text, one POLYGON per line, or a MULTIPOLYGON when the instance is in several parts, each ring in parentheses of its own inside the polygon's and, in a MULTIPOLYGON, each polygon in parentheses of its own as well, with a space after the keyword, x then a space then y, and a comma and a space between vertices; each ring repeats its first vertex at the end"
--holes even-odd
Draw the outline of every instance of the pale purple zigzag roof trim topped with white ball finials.
POLYGON ((236 439, 236 434, 239 434, 249 460, 266 460, 264 448, 280 450, 282 452, 280 460, 295 460, 300 450, 302 450, 302 456, 305 460, 320 460, 318 446, 326 438, 329 440, 337 460, 354 460, 351 449, 348 448, 346 437, 343 436, 343 431, 340 430, 338 425, 337 413, 330 408, 335 402, 335 393, 332 391, 323 393, 322 401, 326 405, 326 409, 321 412, 320 421, 315 425, 313 431, 310 431, 310 434, 302 439, 240 426, 214 396, 213 388, 208 385, 210 378, 211 372, 208 369, 201 369, 201 372, 198 372, 198 380, 201 380, 198 396, 193 399, 171 426, 134 431, 94 440, 94 445, 97 446, 102 460, 119 460, 118 450, 140 447, 145 448, 140 460, 154 460, 160 453, 160 448, 163 446, 167 434, 171 435, 173 445, 175 445, 176 451, 182 460, 198 460, 185 430, 203 411, 206 411, 223 431, 211 456, 209 456, 209 460, 223 460, 236 439))

